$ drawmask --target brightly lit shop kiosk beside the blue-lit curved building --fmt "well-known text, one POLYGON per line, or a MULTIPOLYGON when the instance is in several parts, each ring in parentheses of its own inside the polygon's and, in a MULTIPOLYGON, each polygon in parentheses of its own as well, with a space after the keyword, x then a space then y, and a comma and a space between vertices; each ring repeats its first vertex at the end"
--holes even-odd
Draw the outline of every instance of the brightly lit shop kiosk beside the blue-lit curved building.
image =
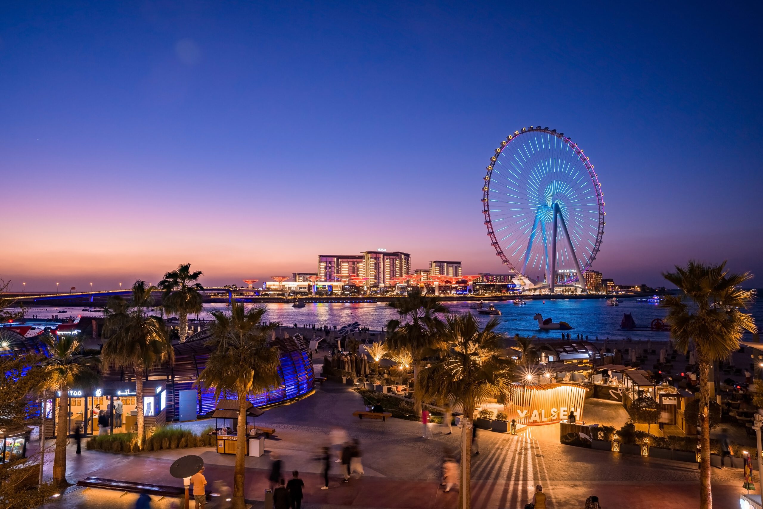
MULTIPOLYGON (((114 382, 96 389, 69 389, 67 425, 69 434, 80 427, 83 436, 101 434, 98 416, 108 418, 112 433, 137 431, 135 382, 114 382), (120 411, 121 408, 121 411, 120 411)), ((45 437, 53 438, 58 429, 60 393, 43 402, 45 437)), ((143 382, 143 415, 146 429, 166 423, 167 385, 164 380, 143 382)))

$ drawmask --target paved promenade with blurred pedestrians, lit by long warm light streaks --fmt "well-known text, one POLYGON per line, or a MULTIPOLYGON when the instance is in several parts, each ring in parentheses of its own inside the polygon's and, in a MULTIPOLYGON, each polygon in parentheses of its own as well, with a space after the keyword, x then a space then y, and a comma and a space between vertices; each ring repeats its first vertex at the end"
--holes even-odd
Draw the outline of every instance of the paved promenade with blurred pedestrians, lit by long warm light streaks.
MULTIPOLYGON (((433 438, 426 440, 420 437, 419 423, 398 419, 360 421, 352 416, 358 408, 362 408, 359 395, 346 386, 327 382, 311 397, 273 408, 257 418, 257 424, 277 430, 274 440, 266 440, 266 452, 281 456, 285 472, 301 472, 306 485, 303 507, 457 507, 457 492, 444 493, 439 486, 439 468, 444 448, 458 446, 459 430, 454 428, 454 434, 446 435, 435 427, 433 438), (330 489, 322 491, 320 466, 311 458, 318 447, 327 444, 328 431, 335 425, 359 438, 366 475, 341 484, 338 464, 333 463, 336 469, 330 489)), ((205 427, 208 421, 175 425, 205 427)), ((521 509, 532 497, 536 484, 543 485, 549 507, 583 507, 589 495, 597 495, 603 507, 622 507, 624 501, 633 509, 697 507, 696 465, 562 446, 555 433, 552 426, 537 427, 530 434, 516 437, 481 431, 481 452, 472 461, 474 507, 521 509)), ((177 484, 169 476, 169 465, 185 454, 204 458, 209 482, 221 479, 232 484, 233 456, 214 453, 211 448, 138 455, 83 450, 77 456, 72 447, 67 463, 69 481, 93 475, 177 484)), ((264 498, 269 464, 269 455, 246 458, 246 498, 264 498)), ((755 485, 759 486, 757 476, 755 485)), ((742 471, 714 469, 714 507, 739 507, 741 486, 742 471)), ((88 504, 86 497, 80 499, 76 499, 79 507, 96 507, 88 504)))

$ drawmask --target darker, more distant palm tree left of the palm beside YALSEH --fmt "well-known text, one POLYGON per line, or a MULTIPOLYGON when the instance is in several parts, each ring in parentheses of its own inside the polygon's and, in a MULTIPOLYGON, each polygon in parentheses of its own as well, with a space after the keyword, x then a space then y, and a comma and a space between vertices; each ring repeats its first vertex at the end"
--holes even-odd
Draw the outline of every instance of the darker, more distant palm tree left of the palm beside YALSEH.
POLYGON ((414 357, 414 402, 417 415, 421 415, 419 370, 424 357, 432 353, 443 322, 436 313, 448 309, 436 297, 422 296, 418 291, 405 297, 392 299, 388 306, 397 309, 400 319, 387 322, 387 346, 391 351, 410 351, 414 357))

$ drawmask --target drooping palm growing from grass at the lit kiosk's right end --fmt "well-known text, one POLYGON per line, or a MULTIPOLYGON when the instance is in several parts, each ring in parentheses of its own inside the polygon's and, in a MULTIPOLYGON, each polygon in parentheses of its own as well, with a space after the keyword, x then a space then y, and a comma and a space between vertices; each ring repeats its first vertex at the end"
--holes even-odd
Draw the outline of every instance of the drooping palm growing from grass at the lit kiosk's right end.
POLYGON ((137 406, 138 444, 143 447, 146 433, 143 415, 143 379, 146 372, 161 363, 174 363, 175 351, 167 335, 164 320, 149 315, 153 304, 151 292, 137 280, 133 285, 132 300, 120 296, 108 299, 105 308, 104 337, 101 359, 107 365, 132 369, 135 375, 135 401, 137 406))

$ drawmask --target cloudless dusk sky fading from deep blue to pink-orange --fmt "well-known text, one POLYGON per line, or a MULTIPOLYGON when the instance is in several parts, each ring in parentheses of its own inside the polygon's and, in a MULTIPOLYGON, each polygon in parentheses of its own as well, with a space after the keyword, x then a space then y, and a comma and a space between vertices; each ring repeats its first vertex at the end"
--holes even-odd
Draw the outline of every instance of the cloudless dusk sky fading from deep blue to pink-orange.
POLYGON ((604 277, 763 286, 763 9, 707 7, 5 2, 0 277, 241 284, 375 248, 501 273, 485 166, 542 124, 596 165, 604 277))

